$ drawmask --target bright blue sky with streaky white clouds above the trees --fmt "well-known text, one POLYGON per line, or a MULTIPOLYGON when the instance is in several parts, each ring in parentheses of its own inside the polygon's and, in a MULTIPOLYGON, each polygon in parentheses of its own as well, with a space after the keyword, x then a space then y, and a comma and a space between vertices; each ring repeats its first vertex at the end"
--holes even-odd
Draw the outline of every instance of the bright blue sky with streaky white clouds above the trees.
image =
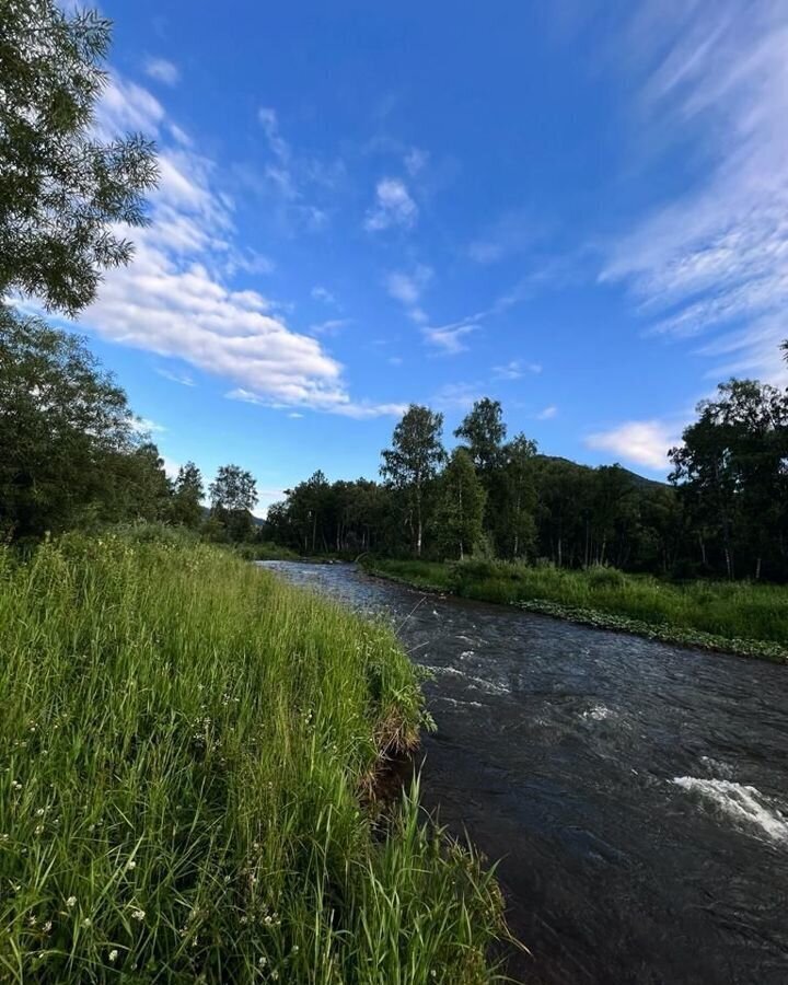
POLYGON ((162 182, 79 326, 171 467, 236 462, 264 509, 489 395, 659 476, 719 380, 785 382, 785 3, 102 10, 97 126, 162 182))

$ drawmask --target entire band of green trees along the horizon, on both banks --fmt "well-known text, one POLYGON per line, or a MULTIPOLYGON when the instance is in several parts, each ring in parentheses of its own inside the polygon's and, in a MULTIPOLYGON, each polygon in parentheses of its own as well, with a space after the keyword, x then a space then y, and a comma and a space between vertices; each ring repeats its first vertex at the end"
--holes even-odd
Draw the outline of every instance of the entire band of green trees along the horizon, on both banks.
POLYGON ((382 452, 381 480, 316 472, 256 522, 254 477, 222 466, 206 489, 170 478, 126 394, 84 341, 0 306, 0 538, 148 520, 215 541, 302 554, 499 557, 611 565, 679 578, 788 580, 788 391, 731 380, 668 452, 670 485, 590 468, 507 438, 478 401, 443 447, 443 417, 412 406, 382 452), (210 503, 207 508, 205 502, 210 503))

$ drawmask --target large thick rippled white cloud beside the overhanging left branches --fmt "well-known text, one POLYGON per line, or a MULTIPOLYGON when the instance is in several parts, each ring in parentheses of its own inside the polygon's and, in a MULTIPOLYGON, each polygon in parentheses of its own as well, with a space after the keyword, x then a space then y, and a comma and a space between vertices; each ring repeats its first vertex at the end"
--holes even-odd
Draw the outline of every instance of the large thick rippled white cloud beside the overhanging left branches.
MULTIPOLYGON (((161 184, 151 224, 129 233, 134 262, 105 274, 82 325, 230 381, 235 398, 358 418, 399 413, 398 404, 351 399, 344 368, 317 339, 291 329, 257 290, 232 287, 228 269, 244 257, 255 264, 234 244, 233 201, 211 161, 167 146, 166 114, 150 93, 114 76, 97 119, 104 132, 132 127, 159 137, 161 184)), ((264 126, 276 138, 275 117, 264 126)))

